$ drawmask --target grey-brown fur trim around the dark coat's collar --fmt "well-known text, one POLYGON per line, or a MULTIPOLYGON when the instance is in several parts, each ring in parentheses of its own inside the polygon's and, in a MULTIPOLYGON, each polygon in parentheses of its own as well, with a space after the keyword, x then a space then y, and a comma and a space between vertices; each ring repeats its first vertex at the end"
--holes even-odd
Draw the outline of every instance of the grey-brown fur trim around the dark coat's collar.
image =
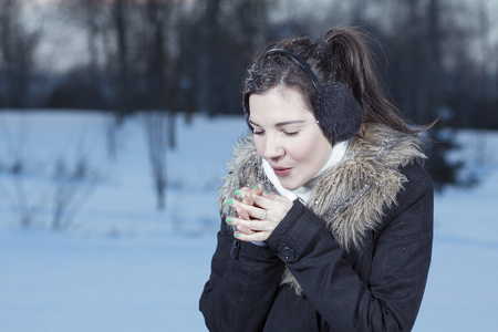
MULTIPOLYGON (((219 193, 222 218, 235 214, 227 199, 234 197, 237 189, 262 184, 269 191, 277 193, 264 175, 252 135, 239 142, 234 155, 219 193)), ((351 139, 344 158, 319 177, 308 208, 325 221, 345 250, 360 250, 366 234, 381 222, 384 211, 396 204, 396 194, 406 181, 398 168, 425 158, 416 136, 381 124, 363 124, 357 136, 351 139)), ((282 283, 291 283, 301 293, 287 268, 282 283)))

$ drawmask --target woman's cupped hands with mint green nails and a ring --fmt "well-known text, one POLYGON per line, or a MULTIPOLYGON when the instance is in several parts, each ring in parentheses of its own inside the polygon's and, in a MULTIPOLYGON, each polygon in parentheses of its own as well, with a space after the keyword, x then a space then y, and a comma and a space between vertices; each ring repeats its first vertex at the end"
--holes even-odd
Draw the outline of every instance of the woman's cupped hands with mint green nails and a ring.
POLYGON ((238 193, 241 201, 230 199, 239 217, 227 217, 235 225, 235 236, 242 241, 267 240, 292 207, 287 197, 268 194, 261 185, 257 189, 242 188, 238 193))

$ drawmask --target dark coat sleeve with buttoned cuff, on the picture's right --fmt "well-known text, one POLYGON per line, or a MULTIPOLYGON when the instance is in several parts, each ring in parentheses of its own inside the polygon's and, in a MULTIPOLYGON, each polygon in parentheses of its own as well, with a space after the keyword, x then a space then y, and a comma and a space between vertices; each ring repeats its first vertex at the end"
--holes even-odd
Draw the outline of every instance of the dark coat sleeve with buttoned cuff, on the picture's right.
POLYGON ((398 206, 372 239, 364 280, 324 222, 299 201, 267 240, 330 330, 409 331, 415 322, 430 263, 434 198, 426 172, 408 167, 398 206))

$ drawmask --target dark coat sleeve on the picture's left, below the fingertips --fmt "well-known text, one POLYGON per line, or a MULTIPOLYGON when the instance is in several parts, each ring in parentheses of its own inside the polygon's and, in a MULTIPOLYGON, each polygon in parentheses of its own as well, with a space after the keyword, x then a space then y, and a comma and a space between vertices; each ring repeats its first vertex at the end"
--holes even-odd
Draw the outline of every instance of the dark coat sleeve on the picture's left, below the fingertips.
POLYGON ((262 330, 282 272, 283 263, 272 250, 236 240, 221 221, 199 303, 209 331, 262 330))

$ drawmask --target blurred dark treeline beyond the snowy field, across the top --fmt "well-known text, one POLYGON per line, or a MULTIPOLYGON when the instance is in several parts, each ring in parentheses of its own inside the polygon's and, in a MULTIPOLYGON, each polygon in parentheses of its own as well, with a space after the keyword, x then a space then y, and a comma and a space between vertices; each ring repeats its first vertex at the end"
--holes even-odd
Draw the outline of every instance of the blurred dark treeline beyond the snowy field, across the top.
POLYGON ((23 3, 0 0, 0 107, 240 114, 261 45, 355 24, 380 41, 378 70, 413 122, 498 128, 496 0, 54 0, 50 14, 23 3), (40 55, 53 22, 85 45, 56 73, 40 55))

